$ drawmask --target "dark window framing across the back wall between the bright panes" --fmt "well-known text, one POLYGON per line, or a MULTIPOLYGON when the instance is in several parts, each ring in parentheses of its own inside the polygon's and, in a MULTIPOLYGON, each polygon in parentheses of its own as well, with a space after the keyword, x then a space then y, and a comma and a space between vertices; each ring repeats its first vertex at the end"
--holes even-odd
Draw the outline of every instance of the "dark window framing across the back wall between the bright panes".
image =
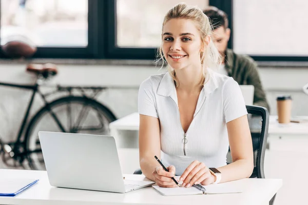
MULTIPOLYGON (((1 0, 0 0, 1 1, 1 0)), ((208 0, 226 12, 231 29, 228 48, 233 48, 233 0, 208 0)), ((1 4, 0 4, 1 9, 1 4)), ((1 15, 0 15, 1 17, 1 15)), ((1 36, 0 36, 1 37, 1 36)), ((37 47, 32 58, 94 58, 155 60, 157 49, 117 47, 117 0, 88 0, 87 47, 37 47)), ((308 61, 308 55, 250 55, 257 61, 308 61)), ((0 58, 8 58, 0 49, 0 58)))

